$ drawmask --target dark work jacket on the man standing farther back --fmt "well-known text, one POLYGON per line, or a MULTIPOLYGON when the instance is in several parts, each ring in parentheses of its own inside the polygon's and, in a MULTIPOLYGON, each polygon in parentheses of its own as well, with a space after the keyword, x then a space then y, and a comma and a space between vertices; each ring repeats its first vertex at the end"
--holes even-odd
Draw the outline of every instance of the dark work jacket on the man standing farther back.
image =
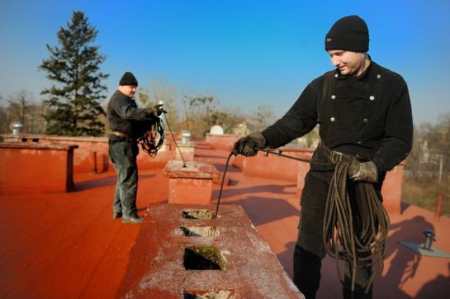
POLYGON ((115 91, 108 102, 108 121, 111 131, 118 131, 137 139, 155 121, 147 109, 138 108, 136 101, 120 91, 115 91))

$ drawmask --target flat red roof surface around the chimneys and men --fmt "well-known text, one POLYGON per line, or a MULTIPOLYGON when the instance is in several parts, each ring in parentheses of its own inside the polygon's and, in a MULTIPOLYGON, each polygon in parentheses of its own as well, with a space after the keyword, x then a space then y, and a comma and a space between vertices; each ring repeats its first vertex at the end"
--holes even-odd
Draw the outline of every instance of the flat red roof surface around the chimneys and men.
MULTIPOLYGON (((228 154, 201 142, 195 149, 196 160, 219 171, 228 154)), ((243 206, 292 277, 300 211, 295 184, 245 177, 233 166, 227 175, 221 204, 243 206)), ((115 173, 76 173, 74 192, 0 196, 0 298, 115 298, 141 227, 111 217, 115 180, 115 173)), ((213 204, 218 195, 214 185, 213 204)), ((162 168, 140 171, 141 215, 167 197, 162 168)), ((450 218, 433 216, 406 205, 401 215, 390 215, 385 270, 375 280, 374 298, 450 298, 450 259, 421 256, 398 243, 423 243, 423 230, 433 230, 432 245, 450 253, 450 218)), ((332 258, 323 260, 318 298, 342 298, 332 258)))

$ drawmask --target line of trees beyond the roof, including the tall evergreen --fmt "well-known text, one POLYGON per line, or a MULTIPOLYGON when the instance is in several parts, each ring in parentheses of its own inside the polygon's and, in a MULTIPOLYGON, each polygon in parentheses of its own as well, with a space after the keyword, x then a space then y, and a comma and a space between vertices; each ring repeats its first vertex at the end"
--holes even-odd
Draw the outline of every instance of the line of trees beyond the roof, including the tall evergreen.
MULTIPOLYGON (((41 91, 40 103, 26 90, 6 99, 0 95, 1 133, 11 132, 11 122, 20 121, 23 133, 107 135, 105 104, 102 106, 101 102, 107 97, 103 80, 109 74, 101 71, 106 55, 93 45, 97 34, 98 30, 82 11, 72 13, 67 27, 58 29, 58 46, 46 44, 49 58, 42 60, 38 68, 46 72, 51 86, 41 91)), ((172 130, 188 129, 193 138, 203 138, 214 125, 224 128, 224 133, 245 135, 276 120, 269 105, 259 105, 248 115, 238 108, 221 107, 211 95, 184 94, 178 100, 176 87, 166 84, 164 79, 153 79, 148 88, 140 87, 137 98, 143 107, 163 101, 172 130)), ((449 138, 450 113, 442 114, 437 124, 416 126, 406 170, 413 175, 439 173, 441 178, 448 175, 449 138)), ((306 146, 317 139, 317 129, 304 138, 306 146)))

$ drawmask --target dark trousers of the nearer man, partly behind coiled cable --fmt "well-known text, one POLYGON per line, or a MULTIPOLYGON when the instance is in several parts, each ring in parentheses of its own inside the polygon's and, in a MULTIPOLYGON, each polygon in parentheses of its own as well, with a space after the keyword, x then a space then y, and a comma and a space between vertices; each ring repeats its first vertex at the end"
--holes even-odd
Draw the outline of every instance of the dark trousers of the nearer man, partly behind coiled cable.
MULTIPOLYGON (((294 283, 307 299, 316 298, 321 279, 321 260, 326 256, 323 244, 323 218, 325 215, 328 186, 334 171, 309 171, 302 191, 299 234, 294 250, 294 283)), ((358 185, 349 183, 349 197, 359 209, 358 185)), ((355 215, 355 213, 353 213, 355 215)), ((354 216, 354 227, 358 230, 359 220, 354 216)), ((370 254, 369 253, 366 253, 370 254)), ((371 260, 367 260, 367 264, 371 260)), ((365 284, 371 275, 371 266, 356 267, 355 291, 351 291, 352 267, 345 262, 344 298, 372 298, 372 289, 365 293, 365 284)), ((338 272, 336 272, 338 277, 338 272)))

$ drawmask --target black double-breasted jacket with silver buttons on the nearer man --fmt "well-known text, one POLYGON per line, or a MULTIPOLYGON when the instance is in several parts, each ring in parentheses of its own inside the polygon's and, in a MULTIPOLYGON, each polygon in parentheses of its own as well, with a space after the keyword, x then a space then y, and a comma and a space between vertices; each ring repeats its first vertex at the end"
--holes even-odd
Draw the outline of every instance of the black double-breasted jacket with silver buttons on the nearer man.
POLYGON ((330 150, 371 159, 389 171, 412 147, 413 121, 408 87, 397 73, 371 62, 359 77, 326 72, 304 89, 288 112, 262 134, 280 147, 319 124, 330 150))

